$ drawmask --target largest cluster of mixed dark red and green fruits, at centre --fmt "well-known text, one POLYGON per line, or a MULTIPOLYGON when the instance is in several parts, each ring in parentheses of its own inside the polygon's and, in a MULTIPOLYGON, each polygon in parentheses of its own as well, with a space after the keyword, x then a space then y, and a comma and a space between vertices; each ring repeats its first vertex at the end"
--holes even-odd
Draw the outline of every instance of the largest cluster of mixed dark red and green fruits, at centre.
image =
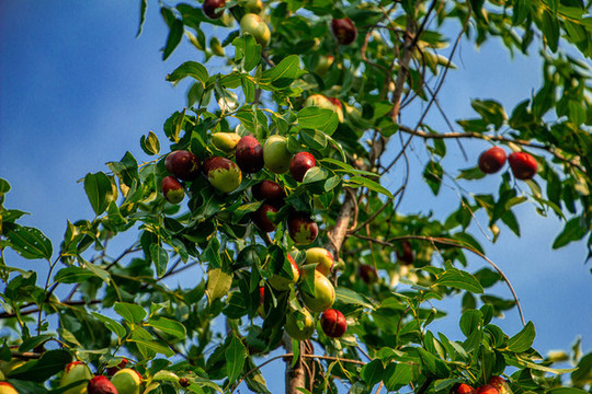
MULTIPOLYGON (((235 132, 216 132, 212 135, 212 143, 226 153, 235 154, 235 160, 212 157, 203 162, 186 150, 169 153, 164 159, 164 167, 172 174, 161 182, 164 198, 171 204, 183 200, 185 192, 181 181, 194 181, 203 173, 209 184, 223 193, 236 190, 242 182, 242 173, 254 174, 266 167, 273 173, 289 174, 296 182, 303 182, 308 170, 317 165, 315 157, 309 152, 292 154, 287 149, 287 139, 283 136, 270 136, 264 146, 253 136, 240 137, 235 132)), ((285 193, 282 186, 263 179, 252 188, 257 200, 263 201, 251 215, 253 223, 264 232, 272 232, 276 224, 267 213, 276 213, 284 205, 285 193)), ((287 218, 288 234, 297 245, 308 245, 317 239, 319 228, 308 212, 292 210, 287 218)))

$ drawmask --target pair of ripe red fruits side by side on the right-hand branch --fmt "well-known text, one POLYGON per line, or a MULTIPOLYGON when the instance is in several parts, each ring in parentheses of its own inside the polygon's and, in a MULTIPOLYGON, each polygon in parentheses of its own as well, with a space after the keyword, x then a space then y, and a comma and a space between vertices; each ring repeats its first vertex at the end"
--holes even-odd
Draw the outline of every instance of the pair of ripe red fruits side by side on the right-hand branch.
MULTIPOLYGON (((479 157, 479 170, 485 174, 497 173, 505 163, 505 159, 503 149, 500 147, 490 148, 479 157)), ((508 157, 508 162, 516 179, 532 179, 536 175, 537 164, 532 154, 513 152, 508 157)))

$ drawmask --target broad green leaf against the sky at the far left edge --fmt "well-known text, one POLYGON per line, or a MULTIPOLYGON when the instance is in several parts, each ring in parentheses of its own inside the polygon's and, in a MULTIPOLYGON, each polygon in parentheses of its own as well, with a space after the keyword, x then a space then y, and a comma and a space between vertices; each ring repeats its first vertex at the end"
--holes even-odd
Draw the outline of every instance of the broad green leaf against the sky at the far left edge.
POLYGON ((41 230, 25 227, 11 227, 5 233, 11 247, 24 258, 52 258, 54 248, 52 241, 41 230))

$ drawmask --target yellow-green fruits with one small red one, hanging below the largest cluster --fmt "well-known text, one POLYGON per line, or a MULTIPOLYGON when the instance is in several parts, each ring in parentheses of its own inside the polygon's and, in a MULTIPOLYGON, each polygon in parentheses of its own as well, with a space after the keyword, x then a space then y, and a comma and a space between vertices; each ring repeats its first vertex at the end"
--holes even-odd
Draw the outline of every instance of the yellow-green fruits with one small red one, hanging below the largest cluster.
MULTIPOLYGON (((296 285, 300 280, 300 269, 294 258, 288 254, 287 259, 292 266, 292 279, 273 275, 269 283, 277 291, 289 290, 291 285, 296 285)), ((315 320, 310 312, 321 313, 320 325, 323 333, 331 338, 341 337, 348 329, 348 323, 342 312, 331 309, 335 301, 335 289, 327 278, 333 267, 333 255, 322 247, 311 247, 306 251, 305 265, 315 266, 315 296, 308 294, 300 289, 300 298, 307 309, 303 309, 304 320, 301 326, 297 323, 295 313, 288 313, 286 316, 286 333, 296 340, 310 338, 315 332, 315 320)), ((260 289, 259 315, 264 317, 265 288, 260 289)))

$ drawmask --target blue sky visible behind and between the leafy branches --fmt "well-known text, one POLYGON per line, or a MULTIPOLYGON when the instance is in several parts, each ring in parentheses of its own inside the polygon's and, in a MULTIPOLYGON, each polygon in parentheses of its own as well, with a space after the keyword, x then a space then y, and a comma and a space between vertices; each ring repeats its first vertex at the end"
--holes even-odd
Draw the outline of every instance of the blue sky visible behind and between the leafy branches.
MULTIPOLYGON (((185 106, 186 84, 173 88, 164 78, 183 61, 203 60, 186 40, 167 61, 161 60, 159 49, 168 32, 156 2, 149 1, 144 33, 135 38, 138 19, 139 1, 0 1, 0 177, 12 185, 4 206, 31 212, 21 223, 41 229, 54 241, 54 250, 66 220, 93 217, 79 179, 89 172, 107 171, 105 162, 119 160, 126 151, 139 161, 145 159, 139 138, 149 130, 167 149, 162 124, 185 106)), ((451 26, 451 31, 458 32, 458 26, 451 26)), ((536 48, 531 53, 536 54, 536 48)), ((458 55, 454 60, 458 70, 449 72, 440 95, 453 120, 475 115, 470 99, 496 99, 511 112, 538 89, 540 67, 536 57, 516 55, 511 59, 496 42, 480 50, 463 43, 458 55)), ((208 70, 213 74, 223 69, 219 62, 209 62, 208 70)), ((431 114, 440 121, 441 131, 448 131, 435 108, 431 114)), ((408 116, 402 120, 414 125, 414 119, 408 116)), ((434 198, 421 181, 429 158, 421 141, 412 147, 410 188, 400 210, 433 211, 445 218, 458 207, 458 190, 447 179, 447 186, 434 198)), ((464 147, 469 162, 454 142, 448 143, 444 163, 453 176, 456 169, 475 165, 488 146, 466 142, 464 147)), ((399 174, 385 179, 392 189, 399 182, 399 174)), ((499 182, 498 176, 490 176, 463 186, 487 193, 497 190, 499 182)), ((590 264, 584 264, 584 242, 551 251, 561 222, 553 216, 540 218, 532 205, 521 206, 516 215, 521 239, 503 224, 496 244, 488 243, 477 227, 471 231, 512 281, 526 320, 535 324, 535 348, 543 354, 568 349, 578 335, 583 335, 583 350, 592 350, 592 275, 590 264)), ((478 218, 487 227, 485 217, 478 218)), ((46 271, 41 262, 20 262, 14 254, 7 258, 8 264, 36 269, 42 277, 46 271)), ((483 264, 470 258, 469 270, 483 264)), ((187 286, 186 280, 183 286, 187 286)), ((493 292, 511 298, 503 286, 493 292)), ((459 303, 460 298, 453 298, 435 304, 453 317, 434 322, 432 331, 462 339, 459 303)), ((494 323, 510 334, 521 329, 515 310, 494 323)), ((283 364, 277 368, 283 371, 283 364)), ((272 392, 282 390, 281 376, 270 382, 272 392)))

